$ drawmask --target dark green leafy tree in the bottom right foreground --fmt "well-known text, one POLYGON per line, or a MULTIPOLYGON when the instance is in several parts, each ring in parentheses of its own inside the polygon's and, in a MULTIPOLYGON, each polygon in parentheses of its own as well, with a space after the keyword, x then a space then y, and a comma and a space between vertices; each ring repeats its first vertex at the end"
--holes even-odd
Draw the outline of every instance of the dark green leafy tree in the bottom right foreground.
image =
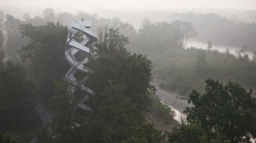
POLYGON ((205 94, 192 90, 186 108, 188 124, 170 134, 170 141, 180 142, 250 142, 255 139, 256 99, 237 83, 205 80, 205 94), (191 134, 188 136, 188 134, 191 134), (244 138, 245 137, 245 138, 244 138))

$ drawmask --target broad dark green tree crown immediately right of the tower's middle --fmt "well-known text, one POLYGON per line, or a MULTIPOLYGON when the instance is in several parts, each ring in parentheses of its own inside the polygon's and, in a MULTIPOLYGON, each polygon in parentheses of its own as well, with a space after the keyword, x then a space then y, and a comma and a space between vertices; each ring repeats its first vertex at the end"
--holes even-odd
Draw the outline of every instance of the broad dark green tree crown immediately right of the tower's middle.
POLYGON ((89 74, 88 83, 97 94, 109 86, 110 80, 115 80, 126 87, 125 94, 136 103, 136 109, 144 111, 150 103, 149 92, 155 91, 150 84, 150 64, 150 60, 141 54, 103 55, 89 63, 94 72, 89 74))

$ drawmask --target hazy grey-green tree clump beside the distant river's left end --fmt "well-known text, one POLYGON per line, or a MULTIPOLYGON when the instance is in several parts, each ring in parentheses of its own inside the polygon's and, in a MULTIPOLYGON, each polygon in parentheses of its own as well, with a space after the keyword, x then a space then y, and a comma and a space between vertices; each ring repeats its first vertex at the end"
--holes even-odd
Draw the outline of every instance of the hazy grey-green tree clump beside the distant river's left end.
POLYGON ((138 30, 140 44, 136 45, 138 47, 134 51, 144 53, 144 50, 150 50, 150 53, 161 53, 161 50, 170 47, 185 48, 188 39, 196 35, 196 29, 191 22, 177 20, 171 23, 151 23, 145 20, 138 30))

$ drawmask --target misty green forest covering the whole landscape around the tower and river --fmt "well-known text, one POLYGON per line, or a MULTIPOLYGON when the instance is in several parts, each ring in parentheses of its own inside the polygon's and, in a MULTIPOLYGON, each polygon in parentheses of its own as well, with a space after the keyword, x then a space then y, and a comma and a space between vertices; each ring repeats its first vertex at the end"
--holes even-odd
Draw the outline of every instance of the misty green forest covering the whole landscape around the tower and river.
POLYGON ((0 142, 250 143, 256 138, 255 23, 190 12, 170 14, 165 21, 144 17, 136 29, 121 18, 84 11, 42 13, 19 19, 0 11, 0 142), (95 91, 87 101, 94 112, 86 119, 88 113, 70 105, 84 91, 76 85, 74 95, 68 93, 74 83, 64 80, 70 65, 63 57, 69 21, 82 18, 92 21, 90 30, 98 36, 89 47, 94 60, 83 65, 91 71, 82 84, 95 91), (191 39, 208 46, 190 46, 191 39), (214 44, 240 49, 220 52, 214 44), (157 88, 193 105, 181 124, 157 88), (51 113, 50 121, 41 121, 37 111, 51 113), (152 116, 173 128, 157 128, 156 121, 149 122, 152 116))

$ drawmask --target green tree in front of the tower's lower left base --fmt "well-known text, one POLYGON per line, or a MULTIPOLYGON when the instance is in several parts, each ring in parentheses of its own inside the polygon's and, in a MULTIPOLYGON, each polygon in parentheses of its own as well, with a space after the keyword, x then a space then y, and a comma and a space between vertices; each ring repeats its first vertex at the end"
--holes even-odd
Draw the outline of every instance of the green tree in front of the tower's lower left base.
MULTIPOLYGON (((84 92, 80 86, 76 86, 74 96, 70 95, 67 87, 71 84, 65 80, 59 82, 54 80, 54 96, 48 100, 50 109, 55 112, 51 123, 53 133, 50 134, 55 137, 50 139, 51 142, 83 142, 85 140, 84 133, 88 132, 84 114, 73 108, 79 102, 80 97, 84 96, 84 92), (70 103, 70 101, 72 102, 70 103)), ((42 133, 39 136, 46 136, 46 129, 42 128, 41 130, 42 133)))

